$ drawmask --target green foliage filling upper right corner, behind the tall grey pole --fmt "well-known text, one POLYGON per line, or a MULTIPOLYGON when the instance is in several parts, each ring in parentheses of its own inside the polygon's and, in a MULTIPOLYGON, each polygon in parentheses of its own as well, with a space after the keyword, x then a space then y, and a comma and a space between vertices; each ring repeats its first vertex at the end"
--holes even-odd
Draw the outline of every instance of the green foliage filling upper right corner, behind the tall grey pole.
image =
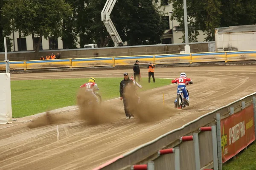
MULTIPOLYGON (((169 0, 173 6, 172 19, 184 28, 183 0, 169 0)), ((227 26, 256 23, 255 0, 187 0, 189 42, 196 42, 197 31, 207 35, 206 41, 214 41, 214 29, 227 26)), ((184 33, 184 31, 183 31, 184 33)), ((182 37, 185 42, 185 36, 182 37)))

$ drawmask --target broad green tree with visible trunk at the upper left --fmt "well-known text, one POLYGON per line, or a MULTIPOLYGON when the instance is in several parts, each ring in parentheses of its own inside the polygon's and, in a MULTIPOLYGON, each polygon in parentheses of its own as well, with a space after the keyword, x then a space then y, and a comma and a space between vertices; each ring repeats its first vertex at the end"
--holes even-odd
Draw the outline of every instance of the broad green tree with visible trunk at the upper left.
POLYGON ((64 0, 8 0, 3 6, 3 15, 15 31, 24 37, 32 35, 36 57, 42 37, 61 37, 62 22, 71 14, 72 8, 64 0))

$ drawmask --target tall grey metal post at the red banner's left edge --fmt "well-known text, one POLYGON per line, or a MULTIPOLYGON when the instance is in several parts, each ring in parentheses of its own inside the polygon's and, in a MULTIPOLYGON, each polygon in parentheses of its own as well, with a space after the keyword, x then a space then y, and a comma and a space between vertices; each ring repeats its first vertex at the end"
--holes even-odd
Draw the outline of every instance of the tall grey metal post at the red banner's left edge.
POLYGON ((218 150, 218 170, 222 170, 222 155, 221 155, 221 115, 216 114, 217 123, 217 150, 218 150))

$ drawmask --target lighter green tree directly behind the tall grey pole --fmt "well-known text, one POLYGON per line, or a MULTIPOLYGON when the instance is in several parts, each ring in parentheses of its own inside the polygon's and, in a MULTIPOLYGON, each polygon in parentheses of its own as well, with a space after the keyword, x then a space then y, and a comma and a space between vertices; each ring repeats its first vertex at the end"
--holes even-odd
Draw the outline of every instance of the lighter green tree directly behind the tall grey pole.
MULTIPOLYGON (((184 11, 183 0, 169 0, 173 6, 172 20, 180 23, 180 28, 184 28, 184 11)), ((187 16, 188 16, 188 34, 189 42, 196 42, 198 31, 201 30, 207 34, 207 41, 214 40, 214 28, 220 26, 221 11, 220 0, 187 0, 187 16)), ((185 36, 183 31, 183 42, 185 36)))

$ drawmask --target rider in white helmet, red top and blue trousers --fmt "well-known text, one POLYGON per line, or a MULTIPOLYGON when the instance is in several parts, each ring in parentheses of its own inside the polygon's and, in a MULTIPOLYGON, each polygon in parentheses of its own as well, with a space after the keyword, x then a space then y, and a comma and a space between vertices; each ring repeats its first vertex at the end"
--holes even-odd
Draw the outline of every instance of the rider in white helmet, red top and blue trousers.
MULTIPOLYGON (((189 94, 188 91, 186 89, 186 85, 188 84, 192 84, 192 80, 190 78, 186 77, 186 73, 180 73, 180 77, 173 79, 172 83, 177 83, 178 87, 177 87, 177 92, 179 90, 183 91, 183 95, 184 95, 184 105, 189 106, 189 94)), ((175 103, 177 103, 177 98, 175 99, 175 103)))

